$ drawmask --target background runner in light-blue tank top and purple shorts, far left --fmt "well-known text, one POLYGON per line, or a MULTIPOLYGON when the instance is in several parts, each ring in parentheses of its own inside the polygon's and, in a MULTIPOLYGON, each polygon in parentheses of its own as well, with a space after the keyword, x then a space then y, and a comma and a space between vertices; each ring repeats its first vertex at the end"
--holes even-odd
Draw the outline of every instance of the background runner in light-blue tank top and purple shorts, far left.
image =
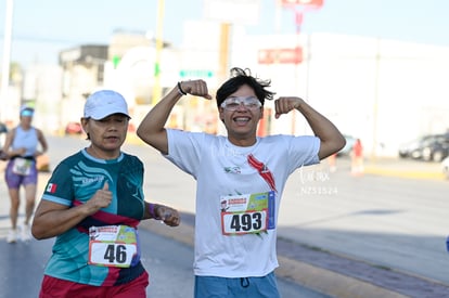
POLYGON ((8 243, 15 243, 18 236, 22 241, 29 241, 29 221, 31 219, 38 182, 36 158, 48 150, 47 140, 42 131, 31 125, 35 109, 23 106, 20 111, 20 124, 11 129, 5 138, 2 157, 8 159, 4 171, 8 191, 11 199, 10 219, 11 230, 7 235, 8 243), (40 145, 40 150, 39 150, 40 145), (21 186, 25 189, 25 220, 17 228, 18 209, 21 205, 21 186))

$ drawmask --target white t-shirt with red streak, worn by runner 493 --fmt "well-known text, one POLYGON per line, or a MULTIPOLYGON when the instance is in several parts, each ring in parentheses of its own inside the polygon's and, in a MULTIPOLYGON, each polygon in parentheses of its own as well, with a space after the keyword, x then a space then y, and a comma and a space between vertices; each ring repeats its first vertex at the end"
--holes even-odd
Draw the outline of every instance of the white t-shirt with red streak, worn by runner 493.
MULTIPOLYGON (((227 137, 167 130, 168 155, 165 157, 196 180, 194 273, 203 276, 264 276, 279 264, 275 251, 275 228, 258 233, 245 231, 267 225, 260 215, 251 211, 254 199, 275 189, 272 224, 278 222, 279 203, 285 182, 295 169, 318 164, 320 140, 304 135, 270 135, 257 138, 255 145, 240 147, 227 137), (252 167, 247 156, 265 164, 275 185, 252 167), (256 194, 251 196, 249 194, 256 194), (234 198, 234 199, 232 199, 234 198), (223 202, 253 202, 244 212, 227 213, 223 202), (236 223, 236 224, 235 224, 236 223), (241 234, 233 234, 240 229, 241 234), (245 229, 248 228, 248 229, 245 229), (234 230, 232 230, 234 229, 234 230), (236 230, 235 230, 236 229, 236 230), (231 233, 227 233, 231 232, 231 233)), ((240 205, 235 206, 240 206, 240 205)), ((271 204, 271 203, 270 203, 271 204)), ((254 208, 253 208, 254 207, 254 208)), ((254 232, 254 231, 253 231, 254 232)))

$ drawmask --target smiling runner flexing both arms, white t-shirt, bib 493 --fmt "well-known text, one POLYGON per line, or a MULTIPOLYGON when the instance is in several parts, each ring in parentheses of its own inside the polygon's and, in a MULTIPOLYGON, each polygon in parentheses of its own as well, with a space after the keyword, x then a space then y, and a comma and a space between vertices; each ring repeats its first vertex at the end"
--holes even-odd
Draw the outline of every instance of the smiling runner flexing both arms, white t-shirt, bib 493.
POLYGON ((315 135, 257 137, 270 81, 232 68, 217 91, 227 137, 166 128, 187 94, 211 100, 203 80, 180 81, 143 118, 137 133, 196 180, 194 297, 279 297, 277 222, 291 173, 345 145, 324 116, 298 96, 274 101, 275 118, 300 113, 315 135), (223 208, 226 206, 226 208, 223 208))

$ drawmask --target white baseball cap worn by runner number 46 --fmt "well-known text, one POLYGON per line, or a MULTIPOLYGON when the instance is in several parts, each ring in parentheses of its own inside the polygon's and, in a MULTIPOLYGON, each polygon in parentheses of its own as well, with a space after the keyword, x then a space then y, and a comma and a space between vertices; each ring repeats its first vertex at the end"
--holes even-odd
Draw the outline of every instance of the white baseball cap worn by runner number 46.
POLYGON ((128 113, 128 104, 125 98, 113 90, 100 90, 89 95, 85 104, 85 118, 101 120, 113 114, 128 113))

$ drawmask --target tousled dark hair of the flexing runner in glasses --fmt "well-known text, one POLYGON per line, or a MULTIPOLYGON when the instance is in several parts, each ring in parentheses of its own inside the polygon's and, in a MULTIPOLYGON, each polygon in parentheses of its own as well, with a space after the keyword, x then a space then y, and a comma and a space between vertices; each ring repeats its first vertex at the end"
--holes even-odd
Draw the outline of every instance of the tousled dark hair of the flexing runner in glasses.
POLYGON ((271 80, 261 80, 251 75, 249 68, 233 67, 230 70, 231 78, 228 79, 217 90, 217 107, 220 107, 221 103, 232 93, 239 90, 243 85, 249 86, 256 93, 257 99, 264 105, 265 100, 271 101, 274 92, 268 91, 266 88, 270 87, 271 80))

